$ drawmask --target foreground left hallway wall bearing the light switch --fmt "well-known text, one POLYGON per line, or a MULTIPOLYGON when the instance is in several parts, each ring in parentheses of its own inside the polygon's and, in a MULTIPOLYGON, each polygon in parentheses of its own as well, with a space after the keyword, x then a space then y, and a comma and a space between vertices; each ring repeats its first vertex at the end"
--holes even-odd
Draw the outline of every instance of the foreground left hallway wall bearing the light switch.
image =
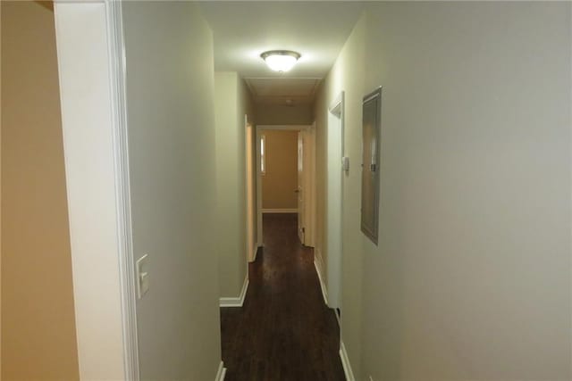
POLYGON ((123 4, 142 379, 214 379, 221 360, 214 226, 213 37, 198 5, 123 4))

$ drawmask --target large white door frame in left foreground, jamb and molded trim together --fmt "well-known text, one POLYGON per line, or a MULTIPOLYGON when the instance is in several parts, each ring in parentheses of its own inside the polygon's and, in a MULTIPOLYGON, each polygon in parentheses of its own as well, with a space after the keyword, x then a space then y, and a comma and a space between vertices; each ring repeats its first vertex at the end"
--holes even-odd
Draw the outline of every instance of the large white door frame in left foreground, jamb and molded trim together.
POLYGON ((122 3, 54 3, 80 379, 138 381, 122 3))

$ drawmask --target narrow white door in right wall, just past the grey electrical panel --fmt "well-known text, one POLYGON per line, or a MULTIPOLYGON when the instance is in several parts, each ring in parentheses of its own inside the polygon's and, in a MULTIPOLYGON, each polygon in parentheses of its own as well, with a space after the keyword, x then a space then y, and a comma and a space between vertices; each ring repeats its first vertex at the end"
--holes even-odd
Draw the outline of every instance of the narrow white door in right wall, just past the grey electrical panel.
POLYGON ((328 112, 327 258, 328 304, 341 309, 343 93, 328 112))

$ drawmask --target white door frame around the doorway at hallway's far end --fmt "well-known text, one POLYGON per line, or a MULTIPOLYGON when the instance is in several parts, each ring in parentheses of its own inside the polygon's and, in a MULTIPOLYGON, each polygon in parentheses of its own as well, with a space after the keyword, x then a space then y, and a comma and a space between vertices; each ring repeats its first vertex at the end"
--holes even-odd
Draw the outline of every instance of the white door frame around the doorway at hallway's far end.
MULTIPOLYGON (((313 124, 261 124, 256 126, 256 157, 257 157, 257 243, 259 247, 264 246, 263 224, 262 224, 262 170, 260 168, 260 137, 265 130, 284 130, 284 131, 302 131, 315 129, 313 124)), ((311 147, 312 155, 315 157, 315 139, 311 147)), ((313 166, 315 168, 315 165, 313 166)), ((310 199, 312 200, 311 211, 315 214, 315 200, 312 195, 315 195, 315 181, 312 182, 310 199)), ((311 236, 315 236, 315 218, 310 220, 311 223, 311 236)))

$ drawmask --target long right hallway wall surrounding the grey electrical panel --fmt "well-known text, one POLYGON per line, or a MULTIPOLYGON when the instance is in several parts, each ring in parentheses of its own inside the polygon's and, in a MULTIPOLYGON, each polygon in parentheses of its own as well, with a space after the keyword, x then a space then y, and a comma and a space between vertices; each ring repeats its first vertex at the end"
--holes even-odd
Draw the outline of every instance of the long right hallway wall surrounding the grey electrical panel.
POLYGON ((324 120, 347 91, 342 335, 357 379, 572 377, 570 42, 569 3, 367 4, 316 103, 324 120), (375 246, 359 232, 359 110, 380 85, 375 246))

